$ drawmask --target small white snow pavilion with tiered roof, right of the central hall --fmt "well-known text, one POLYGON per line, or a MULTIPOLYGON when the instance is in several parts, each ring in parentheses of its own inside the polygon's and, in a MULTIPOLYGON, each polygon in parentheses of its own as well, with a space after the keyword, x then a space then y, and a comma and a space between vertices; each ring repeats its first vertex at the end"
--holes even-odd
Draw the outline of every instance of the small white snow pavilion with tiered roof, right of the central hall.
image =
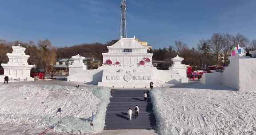
POLYGON ((184 58, 179 57, 178 55, 175 58, 171 59, 173 61, 172 67, 169 67, 169 70, 178 71, 179 75, 187 78, 187 66, 185 64, 181 64, 181 61, 184 58))

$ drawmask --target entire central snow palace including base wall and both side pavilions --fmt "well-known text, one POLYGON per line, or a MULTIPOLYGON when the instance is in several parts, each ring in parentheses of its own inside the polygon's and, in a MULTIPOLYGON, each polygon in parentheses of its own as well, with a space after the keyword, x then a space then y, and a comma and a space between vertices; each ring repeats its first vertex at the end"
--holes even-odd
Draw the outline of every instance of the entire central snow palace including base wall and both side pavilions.
POLYGON ((116 44, 108 47, 103 53, 103 65, 98 69, 87 70, 83 64, 83 56, 73 56, 74 63, 69 66, 68 81, 84 82, 103 87, 141 88, 155 87, 163 83, 187 83, 186 65, 181 64, 183 58, 172 59, 174 64, 170 70, 158 70, 152 66, 153 53, 148 47, 141 45, 133 38, 121 38, 116 44))

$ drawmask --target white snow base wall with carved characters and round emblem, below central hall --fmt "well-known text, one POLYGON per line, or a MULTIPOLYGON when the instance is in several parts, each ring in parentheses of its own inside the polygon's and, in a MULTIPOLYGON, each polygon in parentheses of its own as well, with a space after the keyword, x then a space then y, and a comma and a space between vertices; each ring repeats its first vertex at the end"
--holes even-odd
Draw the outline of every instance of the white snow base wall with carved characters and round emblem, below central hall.
POLYGON ((102 66, 95 70, 77 70, 68 76, 68 81, 115 88, 155 87, 163 83, 188 83, 188 78, 178 71, 158 70, 156 67, 102 66))

